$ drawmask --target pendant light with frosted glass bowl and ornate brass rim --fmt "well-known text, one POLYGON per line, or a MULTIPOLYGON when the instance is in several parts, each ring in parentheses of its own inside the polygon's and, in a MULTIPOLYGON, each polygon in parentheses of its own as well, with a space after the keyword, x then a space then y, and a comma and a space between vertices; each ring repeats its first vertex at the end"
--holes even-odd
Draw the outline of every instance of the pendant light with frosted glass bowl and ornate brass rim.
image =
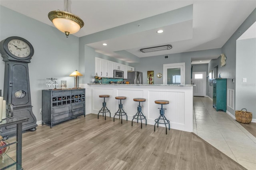
POLYGON ((75 34, 84 26, 83 20, 71 13, 70 0, 64 0, 63 11, 51 11, 48 18, 58 30, 66 34, 67 38, 69 34, 75 34))

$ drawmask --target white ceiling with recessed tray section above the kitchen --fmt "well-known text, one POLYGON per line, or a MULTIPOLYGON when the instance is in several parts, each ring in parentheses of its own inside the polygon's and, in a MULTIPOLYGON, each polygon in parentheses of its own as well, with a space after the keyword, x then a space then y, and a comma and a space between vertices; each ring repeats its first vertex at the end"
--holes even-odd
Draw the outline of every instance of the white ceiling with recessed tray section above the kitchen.
MULTIPOLYGON (((220 48, 256 8, 256 0, 71 0, 72 13, 85 23, 84 27, 74 35, 82 37, 108 29, 118 29, 124 24, 191 4, 193 4, 193 17, 190 21, 155 26, 154 29, 146 31, 138 29, 132 34, 120 34, 108 40, 88 43, 88 46, 112 57, 121 55, 115 51, 124 50, 137 57, 148 57, 220 48), (164 33, 156 34, 158 29, 164 30, 164 33), (103 42, 108 45, 103 46, 103 42), (141 53, 139 50, 166 44, 171 44, 173 48, 152 53, 141 53)), ((0 0, 0 5, 53 26, 48 19, 48 13, 52 10, 63 10, 64 1, 0 0)), ((201 60, 202 62, 199 63, 205 63, 217 57, 219 55, 192 58, 192 60, 194 62, 201 60)), ((127 59, 126 61, 133 62, 127 59)))

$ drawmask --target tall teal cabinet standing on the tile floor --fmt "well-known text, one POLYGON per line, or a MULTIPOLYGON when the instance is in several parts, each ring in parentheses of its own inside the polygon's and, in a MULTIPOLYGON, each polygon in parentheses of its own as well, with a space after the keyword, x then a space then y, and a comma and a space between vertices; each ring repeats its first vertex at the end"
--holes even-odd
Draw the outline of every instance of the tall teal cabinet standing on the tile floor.
POLYGON ((227 79, 212 80, 212 106, 216 111, 227 110, 227 79))

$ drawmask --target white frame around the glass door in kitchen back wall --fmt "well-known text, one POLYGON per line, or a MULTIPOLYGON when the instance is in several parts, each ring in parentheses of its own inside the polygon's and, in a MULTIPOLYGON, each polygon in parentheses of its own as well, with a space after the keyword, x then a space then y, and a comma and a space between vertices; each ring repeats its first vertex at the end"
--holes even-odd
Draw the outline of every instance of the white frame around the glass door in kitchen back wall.
POLYGON ((167 69, 180 68, 180 84, 185 84, 185 63, 172 63, 163 65, 163 84, 167 84, 167 69))

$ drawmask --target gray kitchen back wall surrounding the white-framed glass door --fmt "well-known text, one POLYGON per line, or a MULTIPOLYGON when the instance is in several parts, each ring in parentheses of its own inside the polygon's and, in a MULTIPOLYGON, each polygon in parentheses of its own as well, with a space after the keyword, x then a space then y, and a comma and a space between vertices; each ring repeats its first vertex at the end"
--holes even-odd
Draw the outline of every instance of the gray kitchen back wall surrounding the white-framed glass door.
MULTIPOLYGON (((143 84, 147 84, 147 71, 154 71, 154 84, 163 84, 163 77, 156 77, 157 73, 163 73, 163 64, 185 63, 185 84, 191 84, 191 58, 204 56, 218 56, 221 49, 208 49, 202 51, 192 51, 186 53, 168 54, 169 58, 164 59, 164 55, 142 57, 140 63, 133 63, 136 71, 143 72, 143 84)), ((207 94, 207 93, 206 93, 207 94)))

